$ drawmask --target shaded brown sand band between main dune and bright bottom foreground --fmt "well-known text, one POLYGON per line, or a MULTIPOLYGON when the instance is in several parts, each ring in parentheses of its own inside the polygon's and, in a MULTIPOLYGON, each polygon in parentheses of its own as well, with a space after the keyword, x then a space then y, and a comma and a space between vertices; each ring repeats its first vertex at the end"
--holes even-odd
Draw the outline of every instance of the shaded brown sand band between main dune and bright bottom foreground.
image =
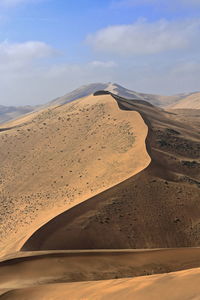
POLYGON ((200 248, 16 253, 0 262, 0 293, 44 284, 135 277, 196 267, 200 267, 200 248))

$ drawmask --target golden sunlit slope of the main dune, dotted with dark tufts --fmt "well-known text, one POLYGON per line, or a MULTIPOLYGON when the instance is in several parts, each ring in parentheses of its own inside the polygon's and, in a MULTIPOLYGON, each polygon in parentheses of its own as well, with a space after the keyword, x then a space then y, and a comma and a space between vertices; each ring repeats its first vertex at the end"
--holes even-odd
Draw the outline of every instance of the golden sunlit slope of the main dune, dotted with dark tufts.
POLYGON ((0 129, 2 254, 59 213, 148 166, 148 128, 110 96, 89 96, 0 129))

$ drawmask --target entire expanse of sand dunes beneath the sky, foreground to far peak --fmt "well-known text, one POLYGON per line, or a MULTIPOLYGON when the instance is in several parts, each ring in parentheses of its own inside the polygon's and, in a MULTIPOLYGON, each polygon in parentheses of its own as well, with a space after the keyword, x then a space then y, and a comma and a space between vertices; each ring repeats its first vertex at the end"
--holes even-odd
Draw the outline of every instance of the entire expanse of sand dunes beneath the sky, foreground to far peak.
POLYGON ((93 84, 1 125, 0 299, 198 299, 196 96, 93 84))

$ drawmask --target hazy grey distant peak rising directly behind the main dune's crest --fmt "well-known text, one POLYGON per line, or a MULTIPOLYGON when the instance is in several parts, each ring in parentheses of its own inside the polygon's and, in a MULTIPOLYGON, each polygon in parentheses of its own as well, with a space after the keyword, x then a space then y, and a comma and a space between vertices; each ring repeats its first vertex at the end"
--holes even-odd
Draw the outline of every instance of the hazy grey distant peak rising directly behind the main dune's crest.
POLYGON ((133 99, 133 100, 143 100, 150 102, 155 106, 165 107, 171 104, 176 103, 183 97, 187 97, 190 94, 179 94, 174 96, 162 96, 162 95, 153 95, 153 94, 145 94, 145 93, 138 93, 135 91, 131 91, 122 87, 116 83, 92 83, 88 85, 84 85, 65 96, 57 98, 48 103, 48 106, 52 105, 63 105, 68 102, 74 101, 76 99, 89 96, 99 90, 109 91, 113 94, 121 96, 126 99, 133 99))

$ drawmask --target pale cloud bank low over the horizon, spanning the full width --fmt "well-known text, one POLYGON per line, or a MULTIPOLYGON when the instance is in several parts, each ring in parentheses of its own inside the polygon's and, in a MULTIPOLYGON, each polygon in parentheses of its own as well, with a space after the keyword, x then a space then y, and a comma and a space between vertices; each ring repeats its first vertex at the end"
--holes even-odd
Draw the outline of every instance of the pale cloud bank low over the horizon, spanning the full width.
POLYGON ((92 82, 118 82, 136 91, 160 94, 200 89, 199 53, 115 61, 103 56, 74 64, 48 59, 54 54, 43 42, 1 43, 0 104, 41 104, 92 82))

